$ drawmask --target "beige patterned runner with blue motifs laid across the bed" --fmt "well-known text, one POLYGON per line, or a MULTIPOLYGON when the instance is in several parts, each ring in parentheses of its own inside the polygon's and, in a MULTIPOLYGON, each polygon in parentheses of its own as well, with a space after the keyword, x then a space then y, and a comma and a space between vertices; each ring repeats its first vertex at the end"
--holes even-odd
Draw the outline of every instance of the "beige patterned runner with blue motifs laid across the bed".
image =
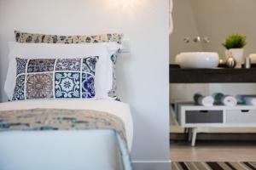
POLYGON ((118 116, 102 111, 34 109, 0 111, 0 131, 112 129, 126 144, 125 126, 118 116))

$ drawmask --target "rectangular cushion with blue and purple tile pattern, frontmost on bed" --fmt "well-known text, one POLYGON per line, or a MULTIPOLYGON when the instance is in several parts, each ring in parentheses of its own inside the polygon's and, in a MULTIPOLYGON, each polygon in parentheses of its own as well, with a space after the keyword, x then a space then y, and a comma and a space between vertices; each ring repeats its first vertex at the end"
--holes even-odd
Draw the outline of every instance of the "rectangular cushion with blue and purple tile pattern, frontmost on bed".
POLYGON ((95 97, 97 56, 72 59, 16 58, 13 100, 95 97))

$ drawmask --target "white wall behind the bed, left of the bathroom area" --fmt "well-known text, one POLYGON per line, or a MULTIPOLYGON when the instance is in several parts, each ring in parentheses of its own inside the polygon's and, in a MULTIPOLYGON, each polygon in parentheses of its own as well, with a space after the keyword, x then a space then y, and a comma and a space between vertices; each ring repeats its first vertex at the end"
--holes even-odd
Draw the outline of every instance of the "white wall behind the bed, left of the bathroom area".
POLYGON ((118 84, 135 123, 132 160, 169 165, 168 0, 0 0, 0 23, 2 101, 7 42, 15 40, 15 29, 66 35, 123 32, 131 40, 131 54, 119 58, 118 84))

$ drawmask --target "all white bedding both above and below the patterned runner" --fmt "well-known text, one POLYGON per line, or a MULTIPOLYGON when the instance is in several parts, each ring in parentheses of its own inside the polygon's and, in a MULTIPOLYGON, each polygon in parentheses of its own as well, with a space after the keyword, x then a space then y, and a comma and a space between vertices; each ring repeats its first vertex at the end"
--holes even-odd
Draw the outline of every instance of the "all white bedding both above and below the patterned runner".
MULTIPOLYGON (((119 116, 125 123, 128 149, 131 151, 133 125, 129 105, 125 103, 114 100, 67 99, 27 100, 0 104, 0 111, 38 108, 95 110, 119 116)), ((113 138, 113 135, 113 131, 110 130, 4 132, 0 133, 0 143, 2 144, 0 145, 2 152, 0 153, 0 161, 5 164, 4 170, 15 170, 17 168, 15 164, 20 167, 32 168, 40 166, 37 169, 73 170, 84 169, 83 166, 89 166, 88 168, 94 168, 94 170, 100 170, 102 167, 104 170, 120 170, 125 167, 125 162, 121 161, 122 155, 119 147, 117 147, 118 140, 113 138), (37 133, 37 135, 33 133, 37 133), (15 164, 12 163, 13 161, 15 164)))

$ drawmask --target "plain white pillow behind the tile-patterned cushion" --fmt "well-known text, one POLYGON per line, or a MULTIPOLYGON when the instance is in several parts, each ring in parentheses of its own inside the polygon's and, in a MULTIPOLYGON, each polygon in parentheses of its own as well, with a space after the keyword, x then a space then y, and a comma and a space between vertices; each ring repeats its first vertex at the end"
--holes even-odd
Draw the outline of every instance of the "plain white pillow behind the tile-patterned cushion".
POLYGON ((106 99, 113 82, 113 67, 110 56, 118 48, 119 44, 116 42, 79 44, 9 42, 9 69, 4 90, 9 99, 12 99, 15 89, 16 57, 50 59, 99 56, 99 61, 96 64, 96 99, 106 99))

